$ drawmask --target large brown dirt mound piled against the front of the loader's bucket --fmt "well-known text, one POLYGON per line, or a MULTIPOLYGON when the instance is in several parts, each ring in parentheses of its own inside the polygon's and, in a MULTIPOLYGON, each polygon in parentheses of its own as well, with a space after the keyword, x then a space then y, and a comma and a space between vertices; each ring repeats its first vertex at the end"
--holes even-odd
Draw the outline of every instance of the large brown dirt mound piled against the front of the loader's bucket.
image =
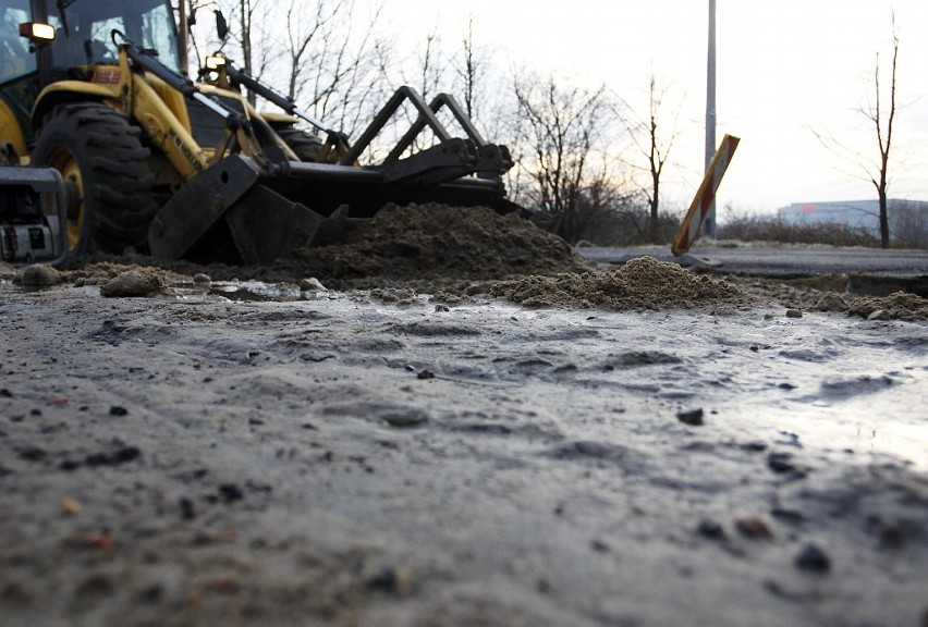
POLYGON ((113 266, 127 265, 220 281, 298 283, 313 276, 335 290, 390 285, 423 291, 589 267, 563 239, 515 213, 443 205, 381 211, 373 220, 352 223, 337 244, 300 248, 266 267, 98 256, 71 262, 69 269, 77 272, 75 278, 99 281, 111 278, 113 266))

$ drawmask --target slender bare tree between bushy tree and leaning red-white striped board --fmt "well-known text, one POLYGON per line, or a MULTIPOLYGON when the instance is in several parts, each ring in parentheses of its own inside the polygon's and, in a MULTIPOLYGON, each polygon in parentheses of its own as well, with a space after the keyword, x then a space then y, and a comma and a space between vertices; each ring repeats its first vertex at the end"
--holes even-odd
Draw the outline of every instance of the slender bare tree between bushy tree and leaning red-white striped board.
MULTIPOLYGON (((640 185, 642 194, 648 202, 648 238, 657 244, 660 234, 660 184, 664 167, 670 158, 673 145, 680 136, 680 128, 674 118, 672 123, 664 130, 663 102, 668 95, 668 87, 659 88, 657 78, 651 73, 648 89, 648 114, 647 116, 634 113, 619 115, 623 121, 635 150, 644 158, 645 164, 640 162, 631 163, 635 170, 647 172, 648 183, 640 185)), ((626 111, 633 111, 627 102, 623 101, 626 111)))

